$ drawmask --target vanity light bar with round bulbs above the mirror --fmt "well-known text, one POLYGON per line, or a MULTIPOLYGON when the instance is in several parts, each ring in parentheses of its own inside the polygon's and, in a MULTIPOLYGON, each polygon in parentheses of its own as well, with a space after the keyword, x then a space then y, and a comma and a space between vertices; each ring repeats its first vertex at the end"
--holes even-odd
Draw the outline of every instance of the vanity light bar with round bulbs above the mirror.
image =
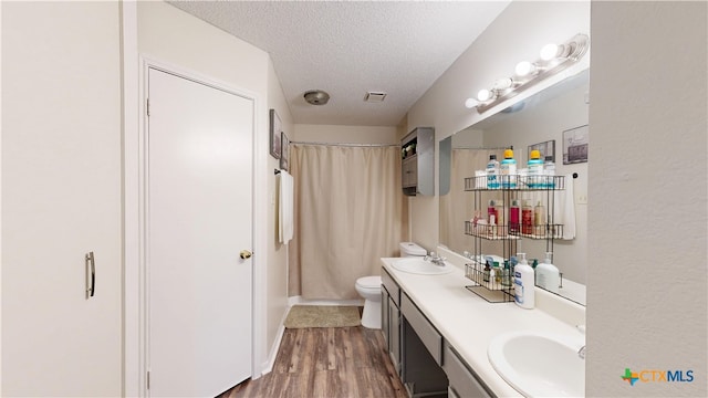
POLYGON ((477 100, 468 98, 465 106, 476 107, 482 113, 492 106, 507 101, 542 80, 552 76, 580 61, 587 52, 590 38, 576 34, 562 44, 546 44, 541 49, 540 59, 535 62, 521 61, 514 69, 514 77, 496 81, 490 90, 482 88, 477 100))

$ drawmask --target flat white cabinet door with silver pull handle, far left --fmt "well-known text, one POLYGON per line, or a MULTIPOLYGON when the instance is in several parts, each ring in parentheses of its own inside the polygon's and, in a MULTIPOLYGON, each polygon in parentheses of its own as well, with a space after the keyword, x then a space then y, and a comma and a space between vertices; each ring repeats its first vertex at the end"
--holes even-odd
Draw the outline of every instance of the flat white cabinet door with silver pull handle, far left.
POLYGON ((2 3, 2 396, 122 395, 119 7, 2 3))

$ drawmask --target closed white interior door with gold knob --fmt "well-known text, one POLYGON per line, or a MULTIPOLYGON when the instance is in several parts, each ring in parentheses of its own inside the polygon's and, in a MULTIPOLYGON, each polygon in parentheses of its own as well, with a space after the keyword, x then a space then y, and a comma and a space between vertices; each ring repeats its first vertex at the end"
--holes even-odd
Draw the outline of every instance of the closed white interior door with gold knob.
POLYGON ((149 395, 216 396, 251 376, 253 102, 148 73, 149 395))

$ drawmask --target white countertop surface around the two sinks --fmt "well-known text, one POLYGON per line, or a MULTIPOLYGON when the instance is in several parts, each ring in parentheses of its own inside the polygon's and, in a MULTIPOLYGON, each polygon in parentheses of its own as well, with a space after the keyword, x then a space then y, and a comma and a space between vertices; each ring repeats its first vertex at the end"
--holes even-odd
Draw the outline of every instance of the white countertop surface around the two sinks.
POLYGON ((518 331, 581 333, 538 307, 524 310, 514 302, 488 303, 465 289, 472 281, 465 277, 458 266, 447 274, 418 275, 394 269, 392 262, 395 260, 399 259, 382 259, 384 269, 498 397, 519 397, 521 394, 489 363, 487 347, 494 336, 518 331))

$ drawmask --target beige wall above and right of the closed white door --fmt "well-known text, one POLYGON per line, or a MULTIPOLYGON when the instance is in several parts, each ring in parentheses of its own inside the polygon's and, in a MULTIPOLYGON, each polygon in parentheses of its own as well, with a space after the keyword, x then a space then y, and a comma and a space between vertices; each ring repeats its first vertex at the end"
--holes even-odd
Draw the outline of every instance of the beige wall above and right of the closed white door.
POLYGON ((254 362, 267 368, 273 353, 278 327, 284 313, 287 292, 284 250, 275 247, 274 159, 269 155, 269 107, 277 107, 290 123, 268 54, 226 32, 162 1, 140 1, 137 7, 138 50, 142 56, 174 65, 209 80, 223 82, 256 98, 254 219, 269 220, 254 226, 254 362), (208 43, 208 45, 206 44, 208 43), (271 98, 271 95, 273 96, 271 98), (260 177, 259 177, 260 176, 260 177))

